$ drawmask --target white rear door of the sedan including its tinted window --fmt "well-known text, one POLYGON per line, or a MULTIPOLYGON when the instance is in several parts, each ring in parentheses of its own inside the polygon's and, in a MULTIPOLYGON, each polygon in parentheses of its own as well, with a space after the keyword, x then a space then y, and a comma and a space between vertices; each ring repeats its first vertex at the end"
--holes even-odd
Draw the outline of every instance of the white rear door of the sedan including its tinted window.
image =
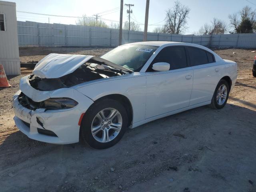
POLYGON ((215 62, 214 55, 206 50, 189 46, 186 50, 194 72, 190 106, 210 101, 224 66, 215 62))

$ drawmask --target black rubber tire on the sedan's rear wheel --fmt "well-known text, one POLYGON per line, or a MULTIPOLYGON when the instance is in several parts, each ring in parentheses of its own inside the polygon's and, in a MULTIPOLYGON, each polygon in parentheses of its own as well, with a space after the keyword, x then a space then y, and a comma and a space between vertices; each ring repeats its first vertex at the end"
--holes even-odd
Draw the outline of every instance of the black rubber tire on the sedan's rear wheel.
POLYGON ((210 108, 213 108, 213 109, 221 109, 221 108, 223 108, 226 105, 227 101, 228 101, 229 92, 230 92, 230 87, 228 85, 228 82, 226 82, 223 79, 220 80, 218 85, 216 86, 216 89, 215 89, 214 94, 212 96, 212 102, 210 104, 210 108), (226 99, 222 100, 222 98, 221 98, 221 102, 220 102, 220 100, 217 101, 217 94, 219 94, 218 90, 219 90, 219 88, 221 86, 222 86, 222 88, 223 88, 223 86, 226 86, 226 99))

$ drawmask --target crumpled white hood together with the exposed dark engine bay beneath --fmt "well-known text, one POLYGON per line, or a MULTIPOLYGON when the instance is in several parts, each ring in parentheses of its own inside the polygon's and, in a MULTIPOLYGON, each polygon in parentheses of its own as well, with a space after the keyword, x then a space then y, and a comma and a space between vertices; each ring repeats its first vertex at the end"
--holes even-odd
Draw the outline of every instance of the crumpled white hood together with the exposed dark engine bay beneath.
POLYGON ((52 91, 68 88, 84 82, 121 76, 131 72, 94 56, 64 54, 50 54, 49 56, 38 63, 33 74, 28 78, 29 84, 37 90, 52 91))

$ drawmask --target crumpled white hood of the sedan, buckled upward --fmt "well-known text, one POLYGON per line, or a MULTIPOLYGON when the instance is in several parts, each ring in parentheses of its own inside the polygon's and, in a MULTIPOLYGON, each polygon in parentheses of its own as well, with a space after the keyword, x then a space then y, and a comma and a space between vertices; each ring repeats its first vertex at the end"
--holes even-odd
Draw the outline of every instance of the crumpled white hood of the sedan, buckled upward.
POLYGON ((40 78, 59 78, 74 72, 92 57, 94 56, 51 53, 36 64, 32 73, 40 78))

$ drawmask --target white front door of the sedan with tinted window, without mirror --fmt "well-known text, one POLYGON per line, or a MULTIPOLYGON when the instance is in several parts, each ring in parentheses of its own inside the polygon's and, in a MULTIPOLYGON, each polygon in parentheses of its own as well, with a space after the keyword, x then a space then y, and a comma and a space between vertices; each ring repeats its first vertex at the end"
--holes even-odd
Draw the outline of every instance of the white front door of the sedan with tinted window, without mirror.
POLYGON ((163 48, 146 71, 146 118, 189 106, 192 84, 184 46, 163 48), (168 62, 170 70, 152 70, 156 62, 168 62))

